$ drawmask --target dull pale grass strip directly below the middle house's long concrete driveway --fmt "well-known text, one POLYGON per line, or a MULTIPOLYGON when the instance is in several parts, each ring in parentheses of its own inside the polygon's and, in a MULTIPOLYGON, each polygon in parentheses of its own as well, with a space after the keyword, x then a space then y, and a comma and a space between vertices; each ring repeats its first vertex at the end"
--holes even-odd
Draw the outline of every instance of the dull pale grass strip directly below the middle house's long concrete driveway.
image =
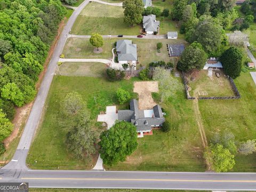
POLYGON ((64 62, 57 73, 63 76, 101 77, 106 73, 106 65, 99 62, 64 62))

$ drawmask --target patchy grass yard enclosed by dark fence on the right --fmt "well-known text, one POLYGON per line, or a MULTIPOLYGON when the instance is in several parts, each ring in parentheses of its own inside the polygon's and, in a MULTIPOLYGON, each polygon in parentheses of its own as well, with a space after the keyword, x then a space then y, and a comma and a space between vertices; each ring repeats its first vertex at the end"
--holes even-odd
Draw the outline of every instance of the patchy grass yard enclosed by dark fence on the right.
MULTIPOLYGON (((207 70, 196 71, 197 77, 195 81, 189 81, 189 86, 191 87, 190 95, 192 97, 222 97, 222 96, 234 96, 234 92, 232 91, 231 84, 229 80, 224 77, 223 71, 216 71, 220 74, 220 78, 218 78, 213 72, 212 77, 207 76, 207 70), (207 95, 202 95, 202 93, 207 92, 207 95), (201 95, 199 95, 201 94, 201 95)), ((188 79, 190 80, 191 76, 188 75, 188 79)))

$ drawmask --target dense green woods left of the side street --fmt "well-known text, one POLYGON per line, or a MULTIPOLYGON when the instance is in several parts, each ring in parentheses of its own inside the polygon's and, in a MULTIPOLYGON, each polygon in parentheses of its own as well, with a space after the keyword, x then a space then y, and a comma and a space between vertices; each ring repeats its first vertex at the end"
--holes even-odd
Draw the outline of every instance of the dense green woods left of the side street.
POLYGON ((0 142, 11 133, 14 107, 35 98, 35 83, 65 14, 59 0, 0 0, 0 142))

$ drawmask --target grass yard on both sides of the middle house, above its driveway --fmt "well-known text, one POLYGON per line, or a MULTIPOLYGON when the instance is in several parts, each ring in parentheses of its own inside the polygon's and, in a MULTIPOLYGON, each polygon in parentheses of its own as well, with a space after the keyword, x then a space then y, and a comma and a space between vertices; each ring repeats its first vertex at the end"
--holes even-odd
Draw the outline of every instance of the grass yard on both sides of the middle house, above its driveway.
MULTIPOLYGON (((101 58, 110 59, 112 57, 111 50, 114 47, 114 42, 122 38, 105 38, 102 47, 103 52, 100 54, 93 53, 94 47, 86 38, 69 38, 63 50, 65 58, 101 58)), ((171 61, 167 51, 166 44, 169 43, 185 43, 182 39, 131 39, 134 44, 137 44, 138 61, 142 65, 148 65, 152 61, 171 61), (156 44, 163 43, 161 53, 157 53, 156 44)))

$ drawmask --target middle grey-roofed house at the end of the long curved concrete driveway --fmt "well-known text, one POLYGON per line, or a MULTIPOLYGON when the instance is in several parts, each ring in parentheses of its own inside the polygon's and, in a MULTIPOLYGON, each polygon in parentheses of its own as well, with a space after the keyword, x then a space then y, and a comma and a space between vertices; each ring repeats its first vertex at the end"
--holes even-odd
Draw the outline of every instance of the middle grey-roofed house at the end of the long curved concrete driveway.
POLYGON ((137 44, 132 44, 131 40, 119 40, 116 42, 116 53, 118 63, 128 63, 136 66, 137 62, 137 44))

